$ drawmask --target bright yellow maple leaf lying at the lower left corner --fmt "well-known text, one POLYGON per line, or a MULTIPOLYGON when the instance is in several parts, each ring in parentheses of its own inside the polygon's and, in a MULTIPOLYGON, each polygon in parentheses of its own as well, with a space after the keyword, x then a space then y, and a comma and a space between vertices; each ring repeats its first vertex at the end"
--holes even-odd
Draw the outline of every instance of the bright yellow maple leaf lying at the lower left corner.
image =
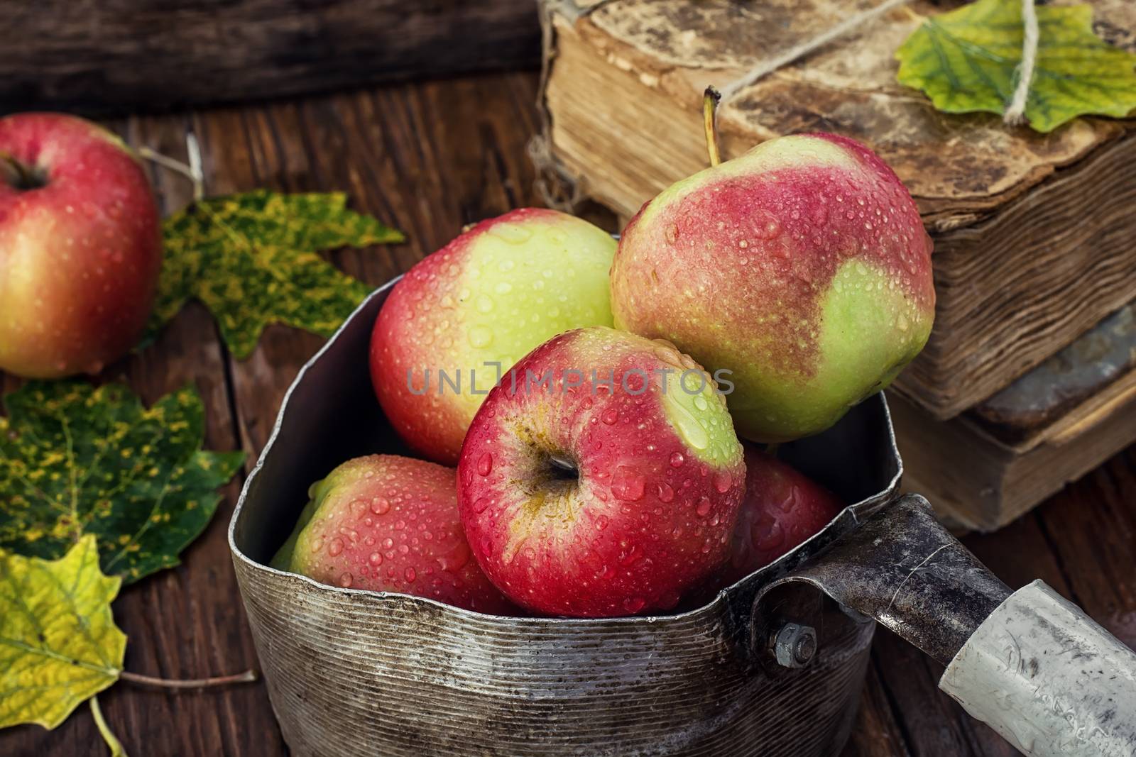
POLYGON ((0 729, 53 729, 123 672, 126 634, 93 536, 45 561, 0 550, 0 729))

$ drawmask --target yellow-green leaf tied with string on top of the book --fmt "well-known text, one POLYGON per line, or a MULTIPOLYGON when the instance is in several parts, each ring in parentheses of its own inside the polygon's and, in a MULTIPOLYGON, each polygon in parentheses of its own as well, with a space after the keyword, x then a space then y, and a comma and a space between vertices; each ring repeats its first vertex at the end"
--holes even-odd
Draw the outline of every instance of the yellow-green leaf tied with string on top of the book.
MULTIPOLYGON (((1052 132, 1077 116, 1136 109, 1136 56, 1093 34, 1089 6, 1038 6, 1038 45, 1026 118, 1052 132)), ((928 18, 895 57, 899 81, 950 113, 1004 113, 1018 85, 1020 0, 978 0, 928 18)))

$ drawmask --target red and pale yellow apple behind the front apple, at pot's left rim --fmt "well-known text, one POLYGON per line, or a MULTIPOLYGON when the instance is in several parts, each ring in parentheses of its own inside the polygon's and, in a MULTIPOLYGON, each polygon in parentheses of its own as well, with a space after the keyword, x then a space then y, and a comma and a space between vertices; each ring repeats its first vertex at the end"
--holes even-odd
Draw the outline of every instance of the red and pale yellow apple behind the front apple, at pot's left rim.
POLYGON ((523 208, 411 268, 383 304, 370 344, 375 393, 406 443, 457 463, 499 375, 557 334, 611 326, 615 251, 611 235, 585 220, 523 208))

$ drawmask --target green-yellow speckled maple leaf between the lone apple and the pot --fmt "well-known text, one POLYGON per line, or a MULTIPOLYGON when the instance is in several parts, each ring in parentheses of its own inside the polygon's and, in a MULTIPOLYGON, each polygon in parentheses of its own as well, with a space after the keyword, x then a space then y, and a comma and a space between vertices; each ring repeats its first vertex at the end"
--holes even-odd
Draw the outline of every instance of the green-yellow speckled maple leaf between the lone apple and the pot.
POLYGON ((269 323, 331 336, 370 293, 317 251, 404 239, 348 210, 343 194, 266 190, 195 202, 166 219, 162 237, 158 298, 142 344, 197 297, 241 360, 252 354, 269 323))

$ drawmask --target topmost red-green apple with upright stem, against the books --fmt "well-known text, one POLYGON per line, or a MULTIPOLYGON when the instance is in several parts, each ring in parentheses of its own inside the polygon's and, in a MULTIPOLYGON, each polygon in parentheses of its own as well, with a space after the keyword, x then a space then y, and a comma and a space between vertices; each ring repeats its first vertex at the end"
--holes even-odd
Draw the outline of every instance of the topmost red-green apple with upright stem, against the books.
POLYGON ((935 312, 932 244, 895 174, 833 134, 765 142, 683 179, 624 230, 617 328, 732 371, 738 434, 817 434, 887 386, 935 312))

